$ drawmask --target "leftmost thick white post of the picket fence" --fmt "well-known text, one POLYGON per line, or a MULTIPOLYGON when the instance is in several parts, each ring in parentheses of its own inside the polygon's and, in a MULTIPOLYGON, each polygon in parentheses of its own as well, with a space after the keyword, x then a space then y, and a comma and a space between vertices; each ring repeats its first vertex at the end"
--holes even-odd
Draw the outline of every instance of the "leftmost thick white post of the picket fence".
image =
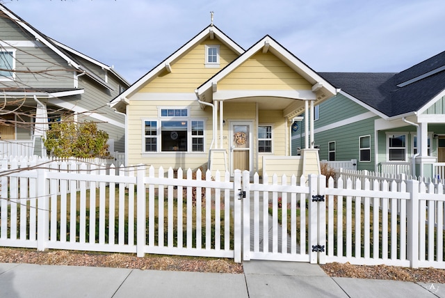
POLYGON ((49 239, 49 194, 45 181, 46 170, 37 170, 37 200, 38 200, 38 223, 37 223, 37 250, 44 251, 49 239))

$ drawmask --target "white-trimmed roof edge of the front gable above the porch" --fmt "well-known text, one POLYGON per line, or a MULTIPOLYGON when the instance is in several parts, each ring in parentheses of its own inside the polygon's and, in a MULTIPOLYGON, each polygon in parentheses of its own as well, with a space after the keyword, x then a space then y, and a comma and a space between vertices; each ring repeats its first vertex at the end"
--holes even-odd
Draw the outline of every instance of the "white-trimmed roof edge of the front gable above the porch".
POLYGON ((202 95, 212 87, 212 84, 218 83, 218 81, 226 77, 230 72, 238 68, 238 66, 247 61, 261 49, 263 49, 264 52, 270 51, 284 63, 286 63, 286 65, 298 72, 298 74, 309 81, 310 84, 314 85, 313 90, 323 89, 323 93, 327 93, 326 98, 337 93, 334 86, 332 86, 328 81, 318 75, 314 70, 312 70, 312 68, 309 68, 308 65, 294 56, 276 40, 266 35, 264 38, 261 38, 261 40, 252 45, 252 47, 245 51, 241 56, 232 61, 232 63, 223 68, 223 70, 220 70, 220 72, 216 73, 216 75, 198 87, 197 94, 202 95), (316 84, 317 86, 315 86, 316 84))

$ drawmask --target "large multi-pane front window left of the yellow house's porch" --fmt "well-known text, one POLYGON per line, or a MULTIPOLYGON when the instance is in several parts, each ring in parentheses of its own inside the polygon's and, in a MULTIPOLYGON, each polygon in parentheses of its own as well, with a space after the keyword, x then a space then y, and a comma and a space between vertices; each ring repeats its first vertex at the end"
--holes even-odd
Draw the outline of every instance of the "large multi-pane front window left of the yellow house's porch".
POLYGON ((204 152, 204 120, 188 118, 188 109, 160 109, 145 120, 145 152, 204 152))

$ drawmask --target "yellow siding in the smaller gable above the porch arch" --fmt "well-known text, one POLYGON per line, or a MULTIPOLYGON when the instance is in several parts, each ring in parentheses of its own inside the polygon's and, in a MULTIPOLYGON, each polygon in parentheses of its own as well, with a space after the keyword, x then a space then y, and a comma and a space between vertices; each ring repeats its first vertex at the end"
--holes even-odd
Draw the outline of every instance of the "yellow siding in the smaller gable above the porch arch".
POLYGON ((218 82, 218 90, 311 90, 312 85, 270 52, 258 52, 218 82))

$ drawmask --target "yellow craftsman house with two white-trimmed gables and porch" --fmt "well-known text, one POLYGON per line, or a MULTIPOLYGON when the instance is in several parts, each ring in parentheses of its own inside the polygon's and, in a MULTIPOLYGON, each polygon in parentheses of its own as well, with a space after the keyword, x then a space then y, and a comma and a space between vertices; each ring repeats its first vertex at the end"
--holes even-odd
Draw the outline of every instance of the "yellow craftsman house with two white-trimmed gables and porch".
POLYGON ((301 175, 319 172, 310 111, 336 93, 270 36, 244 50, 211 24, 110 106, 127 115, 127 164, 301 175))

